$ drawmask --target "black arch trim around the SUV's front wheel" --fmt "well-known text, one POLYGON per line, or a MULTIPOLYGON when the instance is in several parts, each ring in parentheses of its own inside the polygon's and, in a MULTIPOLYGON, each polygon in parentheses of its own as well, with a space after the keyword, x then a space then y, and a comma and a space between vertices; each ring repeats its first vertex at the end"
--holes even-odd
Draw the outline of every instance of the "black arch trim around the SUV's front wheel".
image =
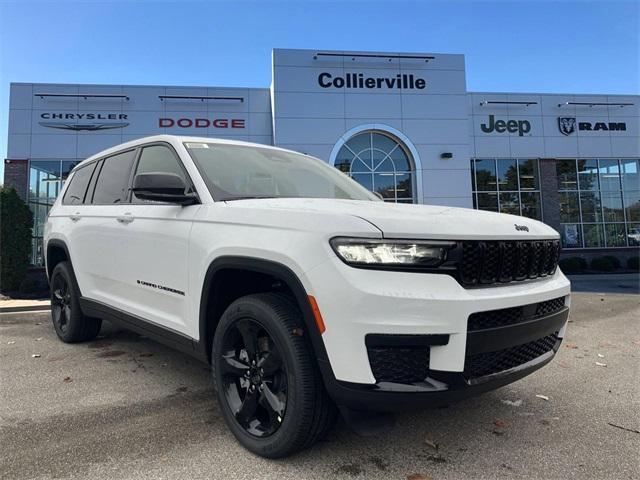
MULTIPOLYGON (((209 291, 213 282, 215 274, 223 269, 238 269, 249 270, 256 273, 263 273, 277 277, 284 282, 295 296, 296 303, 302 311, 302 318, 305 325, 306 334, 311 341, 313 347, 313 353, 318 361, 325 360, 328 364, 327 351, 324 347, 324 341, 318 332, 316 326, 315 317, 307 298, 307 292, 300 282, 298 276, 286 265, 273 262, 270 260, 263 260, 253 257, 240 257, 240 256, 223 256, 214 260, 205 275, 204 283, 202 285, 202 294, 200 297, 200 342, 196 348, 199 348, 205 356, 208 356, 208 346, 206 345, 207 335, 207 309, 209 307, 209 291)), ((217 319, 216 319, 217 320, 217 319)), ((329 369, 321 369, 322 376, 325 384, 328 381, 335 381, 333 371, 329 366, 329 369), (330 377, 327 377, 327 374, 330 377)))

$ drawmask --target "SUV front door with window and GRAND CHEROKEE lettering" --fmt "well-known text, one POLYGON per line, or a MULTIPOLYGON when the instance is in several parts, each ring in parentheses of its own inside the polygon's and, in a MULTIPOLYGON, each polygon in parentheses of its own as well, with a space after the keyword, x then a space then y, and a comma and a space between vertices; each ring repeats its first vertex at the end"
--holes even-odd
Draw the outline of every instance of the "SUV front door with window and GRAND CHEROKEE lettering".
MULTIPOLYGON (((193 189, 182 161, 167 143, 140 148, 131 183, 136 174, 150 172, 178 174, 193 189)), ((130 189, 126 202, 118 209, 117 234, 109 250, 109 261, 117 265, 118 301, 128 313, 193 336, 187 306, 199 292, 189 289, 187 265, 191 226, 200 207, 142 200, 130 189)))

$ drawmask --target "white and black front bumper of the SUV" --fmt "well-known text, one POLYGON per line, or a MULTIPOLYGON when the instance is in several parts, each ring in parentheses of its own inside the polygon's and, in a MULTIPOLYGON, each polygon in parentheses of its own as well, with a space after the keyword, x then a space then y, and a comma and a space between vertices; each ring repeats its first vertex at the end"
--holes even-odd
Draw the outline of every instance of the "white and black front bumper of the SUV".
POLYGON ((446 404, 515 381, 551 360, 568 317, 569 281, 559 270, 531 282, 477 289, 447 275, 363 271, 341 262, 308 274, 320 286, 314 294, 326 325, 328 358, 320 359, 325 384, 337 403, 353 408, 446 404), (562 304, 550 315, 529 312, 516 324, 469 326, 478 312, 533 308, 553 299, 562 304), (372 347, 403 337, 418 343, 405 345, 409 349, 422 344, 420 381, 387 379, 376 368, 372 347), (503 357, 497 367, 491 364, 496 352, 503 357))

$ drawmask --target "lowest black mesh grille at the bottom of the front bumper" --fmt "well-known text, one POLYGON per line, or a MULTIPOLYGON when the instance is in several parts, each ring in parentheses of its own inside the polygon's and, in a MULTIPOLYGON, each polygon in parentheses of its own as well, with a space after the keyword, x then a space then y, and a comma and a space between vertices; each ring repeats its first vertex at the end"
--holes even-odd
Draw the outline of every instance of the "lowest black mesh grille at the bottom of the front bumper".
POLYGON ((497 352, 469 355, 464 362, 464 376, 473 379, 515 368, 550 352, 557 342, 556 332, 539 340, 497 352))

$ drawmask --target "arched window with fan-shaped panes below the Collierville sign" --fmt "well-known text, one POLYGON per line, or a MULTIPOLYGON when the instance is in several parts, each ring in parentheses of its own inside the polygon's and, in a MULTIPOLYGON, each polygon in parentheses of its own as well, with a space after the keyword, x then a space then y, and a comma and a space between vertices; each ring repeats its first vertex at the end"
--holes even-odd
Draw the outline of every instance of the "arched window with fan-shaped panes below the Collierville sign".
POLYGON ((415 201, 415 168, 409 150, 386 132, 370 130, 351 137, 334 165, 385 202, 415 201))

